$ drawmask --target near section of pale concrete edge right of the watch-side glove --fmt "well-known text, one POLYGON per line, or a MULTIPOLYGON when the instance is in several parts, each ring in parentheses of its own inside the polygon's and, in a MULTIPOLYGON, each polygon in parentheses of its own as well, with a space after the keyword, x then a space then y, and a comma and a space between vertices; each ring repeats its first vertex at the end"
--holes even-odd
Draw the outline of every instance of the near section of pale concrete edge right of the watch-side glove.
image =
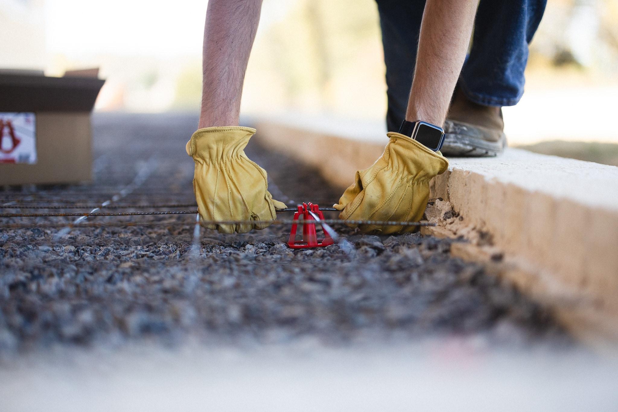
MULTIPOLYGON (((497 159, 457 159, 434 182, 471 227, 539 273, 538 290, 602 309, 618 341, 618 167, 509 149, 497 159)), ((543 293, 543 292, 541 292, 543 293)))

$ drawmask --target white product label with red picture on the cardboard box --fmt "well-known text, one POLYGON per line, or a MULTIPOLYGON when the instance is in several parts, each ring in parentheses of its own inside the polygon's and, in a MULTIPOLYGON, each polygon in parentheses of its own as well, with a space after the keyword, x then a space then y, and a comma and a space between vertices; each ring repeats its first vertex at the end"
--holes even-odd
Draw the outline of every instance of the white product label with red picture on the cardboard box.
POLYGON ((0 112, 0 163, 36 163, 34 113, 0 112))

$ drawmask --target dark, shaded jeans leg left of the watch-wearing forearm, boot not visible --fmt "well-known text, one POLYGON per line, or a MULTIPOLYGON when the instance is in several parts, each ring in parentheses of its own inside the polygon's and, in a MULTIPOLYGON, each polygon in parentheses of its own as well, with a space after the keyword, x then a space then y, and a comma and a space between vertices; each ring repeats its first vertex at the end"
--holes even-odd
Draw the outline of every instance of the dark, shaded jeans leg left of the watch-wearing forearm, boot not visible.
POLYGON ((388 111, 386 127, 397 132, 405 117, 417 57, 424 0, 376 0, 382 29, 388 111))

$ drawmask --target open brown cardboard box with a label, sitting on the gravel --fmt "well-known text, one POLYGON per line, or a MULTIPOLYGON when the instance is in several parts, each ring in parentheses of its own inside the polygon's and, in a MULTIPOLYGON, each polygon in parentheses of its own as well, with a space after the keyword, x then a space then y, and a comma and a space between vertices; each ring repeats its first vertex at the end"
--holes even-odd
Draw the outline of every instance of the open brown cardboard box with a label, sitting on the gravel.
POLYGON ((92 179, 90 117, 104 83, 97 74, 0 72, 0 185, 92 179))

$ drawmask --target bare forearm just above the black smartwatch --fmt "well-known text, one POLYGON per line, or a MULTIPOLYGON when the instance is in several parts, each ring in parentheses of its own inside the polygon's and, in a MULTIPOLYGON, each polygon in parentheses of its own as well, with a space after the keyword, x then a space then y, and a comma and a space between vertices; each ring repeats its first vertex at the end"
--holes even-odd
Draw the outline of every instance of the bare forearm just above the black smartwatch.
POLYGON ((427 0, 405 119, 442 126, 464 65, 479 0, 427 0))

